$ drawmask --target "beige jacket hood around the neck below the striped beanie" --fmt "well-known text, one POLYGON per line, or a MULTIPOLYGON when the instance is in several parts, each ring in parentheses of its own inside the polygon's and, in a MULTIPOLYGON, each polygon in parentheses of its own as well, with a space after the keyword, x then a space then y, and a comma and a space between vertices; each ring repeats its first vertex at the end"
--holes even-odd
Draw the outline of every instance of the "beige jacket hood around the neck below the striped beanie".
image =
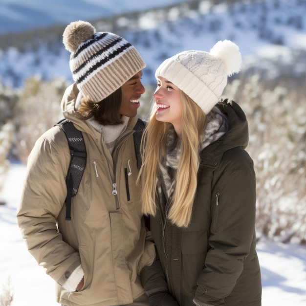
MULTIPOLYGON (((92 133, 94 129, 91 127, 90 124, 87 124, 85 120, 81 120, 75 111, 75 103, 77 100, 77 96, 79 94, 79 89, 75 83, 71 84, 69 87, 66 88, 66 91, 63 95, 63 99, 61 102, 61 109, 63 115, 66 119, 71 121, 75 127, 84 132, 92 133)), ((137 116, 130 118, 128 123, 128 128, 133 128, 137 122, 137 116)))

